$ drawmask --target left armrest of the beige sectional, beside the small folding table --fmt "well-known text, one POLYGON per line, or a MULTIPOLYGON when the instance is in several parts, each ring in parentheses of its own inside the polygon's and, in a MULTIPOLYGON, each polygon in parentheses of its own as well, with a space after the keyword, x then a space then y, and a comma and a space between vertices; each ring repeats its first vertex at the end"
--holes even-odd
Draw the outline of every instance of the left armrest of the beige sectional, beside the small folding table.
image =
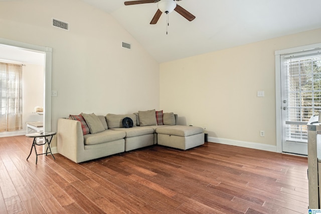
POLYGON ((76 163, 81 162, 85 145, 79 121, 65 118, 58 119, 57 147, 60 154, 76 163))

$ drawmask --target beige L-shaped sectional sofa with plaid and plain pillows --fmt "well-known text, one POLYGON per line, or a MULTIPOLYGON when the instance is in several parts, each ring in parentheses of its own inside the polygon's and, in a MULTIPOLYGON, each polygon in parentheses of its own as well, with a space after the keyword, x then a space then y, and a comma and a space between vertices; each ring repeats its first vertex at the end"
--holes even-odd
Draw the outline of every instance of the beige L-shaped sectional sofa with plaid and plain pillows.
POLYGON ((69 115, 58 119, 58 152, 79 163, 154 144, 183 150, 204 144, 201 127, 177 125, 177 119, 177 114, 155 110, 69 115), (124 118, 132 127, 124 127, 124 118))

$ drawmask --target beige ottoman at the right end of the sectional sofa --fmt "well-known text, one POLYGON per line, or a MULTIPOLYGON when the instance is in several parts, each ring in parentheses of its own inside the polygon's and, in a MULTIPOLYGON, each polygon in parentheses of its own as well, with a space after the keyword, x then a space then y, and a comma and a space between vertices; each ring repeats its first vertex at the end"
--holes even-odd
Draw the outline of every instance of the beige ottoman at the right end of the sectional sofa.
POLYGON ((157 144, 189 149, 204 144, 203 128, 197 126, 167 126, 156 129, 157 144))

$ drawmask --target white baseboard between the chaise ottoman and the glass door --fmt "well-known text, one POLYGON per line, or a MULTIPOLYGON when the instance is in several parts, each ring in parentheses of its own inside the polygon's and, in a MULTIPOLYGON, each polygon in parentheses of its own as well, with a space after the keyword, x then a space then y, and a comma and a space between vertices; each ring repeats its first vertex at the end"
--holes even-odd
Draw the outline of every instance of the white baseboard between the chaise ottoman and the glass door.
POLYGON ((219 137, 209 137, 208 140, 209 142, 212 142, 212 143, 221 143, 221 144, 232 145, 232 146, 241 146, 245 148, 276 152, 276 146, 268 145, 268 144, 246 142, 246 141, 240 141, 240 140, 231 140, 231 139, 219 138, 219 137))

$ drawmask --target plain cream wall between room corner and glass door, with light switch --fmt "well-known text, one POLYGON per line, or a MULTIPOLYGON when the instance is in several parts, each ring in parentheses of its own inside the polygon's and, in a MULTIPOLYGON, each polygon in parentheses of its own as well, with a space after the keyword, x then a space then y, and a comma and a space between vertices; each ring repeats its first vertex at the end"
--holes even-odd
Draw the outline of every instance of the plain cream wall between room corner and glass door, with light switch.
POLYGON ((320 42, 318 29, 162 63, 160 107, 212 141, 276 145, 274 52, 320 42))

